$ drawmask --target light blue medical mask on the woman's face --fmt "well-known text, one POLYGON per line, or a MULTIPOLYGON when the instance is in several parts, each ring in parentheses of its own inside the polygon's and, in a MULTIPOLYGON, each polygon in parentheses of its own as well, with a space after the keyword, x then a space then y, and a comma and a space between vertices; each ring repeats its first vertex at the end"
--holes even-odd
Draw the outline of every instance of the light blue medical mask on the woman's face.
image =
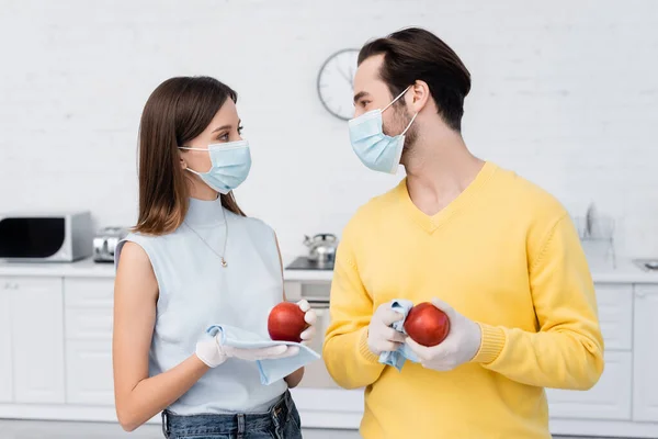
POLYGON ((247 180, 251 169, 251 153, 247 140, 208 145, 207 149, 188 146, 179 146, 179 148, 208 151, 212 165, 207 172, 185 169, 197 175, 208 187, 225 195, 247 180))

